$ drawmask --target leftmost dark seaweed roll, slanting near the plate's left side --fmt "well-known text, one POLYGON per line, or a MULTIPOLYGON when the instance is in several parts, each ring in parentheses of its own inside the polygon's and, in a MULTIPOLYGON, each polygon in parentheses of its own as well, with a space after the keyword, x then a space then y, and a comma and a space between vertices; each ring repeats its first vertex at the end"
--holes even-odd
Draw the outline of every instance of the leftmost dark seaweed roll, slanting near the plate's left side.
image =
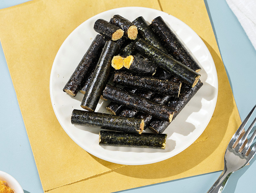
POLYGON ((88 74, 91 72, 91 69, 97 63, 105 42, 106 39, 102 35, 98 34, 95 37, 87 52, 83 56, 81 62, 79 62, 78 66, 76 67, 76 70, 64 86, 64 92, 71 96, 76 96, 80 88, 83 86, 84 80, 87 78, 88 74))

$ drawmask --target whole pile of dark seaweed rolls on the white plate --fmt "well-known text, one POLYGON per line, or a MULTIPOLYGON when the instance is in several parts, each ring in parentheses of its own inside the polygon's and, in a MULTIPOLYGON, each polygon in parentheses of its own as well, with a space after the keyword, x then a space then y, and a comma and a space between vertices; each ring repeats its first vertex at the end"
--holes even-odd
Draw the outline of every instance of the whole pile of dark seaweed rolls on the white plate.
POLYGON ((103 129, 99 145, 165 149, 163 132, 203 85, 200 65, 160 16, 149 25, 114 15, 94 30, 63 88, 84 94, 71 123, 103 129), (100 99, 109 101, 108 114, 95 112, 100 99))

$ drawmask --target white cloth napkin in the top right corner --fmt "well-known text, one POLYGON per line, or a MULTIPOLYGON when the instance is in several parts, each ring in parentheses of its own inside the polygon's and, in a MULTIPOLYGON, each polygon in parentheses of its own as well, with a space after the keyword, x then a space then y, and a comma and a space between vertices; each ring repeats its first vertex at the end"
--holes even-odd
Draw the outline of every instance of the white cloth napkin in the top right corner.
POLYGON ((256 50, 256 0, 226 0, 256 50))

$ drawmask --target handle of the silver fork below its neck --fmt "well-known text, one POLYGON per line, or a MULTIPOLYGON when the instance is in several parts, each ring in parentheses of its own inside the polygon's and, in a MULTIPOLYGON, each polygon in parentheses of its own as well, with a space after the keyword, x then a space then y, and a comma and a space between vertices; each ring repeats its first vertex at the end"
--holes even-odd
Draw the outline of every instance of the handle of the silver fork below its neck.
POLYGON ((221 175, 215 181, 214 185, 208 190, 207 193, 221 193, 226 182, 227 182, 227 179, 229 178, 229 176, 232 173, 233 173, 233 171, 227 172, 227 170, 224 169, 223 172, 221 173, 221 175))

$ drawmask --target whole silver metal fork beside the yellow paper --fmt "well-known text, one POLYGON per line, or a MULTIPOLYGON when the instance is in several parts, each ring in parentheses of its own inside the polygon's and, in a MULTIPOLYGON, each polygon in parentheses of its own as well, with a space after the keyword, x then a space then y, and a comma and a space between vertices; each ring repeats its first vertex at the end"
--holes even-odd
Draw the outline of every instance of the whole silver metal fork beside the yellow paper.
POLYGON ((241 169, 245 165, 247 165, 252 157, 256 153, 256 144, 253 146, 253 148, 250 150, 250 145, 252 144, 255 136, 256 136, 256 130, 253 132, 252 136, 249 140, 247 140, 247 137, 252 130, 256 118, 252 121, 251 125, 247 129, 247 131, 244 133, 244 127, 248 120, 250 119, 251 114, 253 113, 254 109, 256 108, 256 105, 251 109, 250 113, 247 115, 247 117, 244 119, 236 133, 231 138, 230 142, 228 143, 227 150, 225 153, 224 158, 224 170, 219 176, 219 178, 216 180, 214 185, 208 190, 207 193, 221 193, 228 177, 235 171, 241 169), (244 133, 244 134, 241 134, 244 133), (246 144, 245 144, 246 143, 246 144))

